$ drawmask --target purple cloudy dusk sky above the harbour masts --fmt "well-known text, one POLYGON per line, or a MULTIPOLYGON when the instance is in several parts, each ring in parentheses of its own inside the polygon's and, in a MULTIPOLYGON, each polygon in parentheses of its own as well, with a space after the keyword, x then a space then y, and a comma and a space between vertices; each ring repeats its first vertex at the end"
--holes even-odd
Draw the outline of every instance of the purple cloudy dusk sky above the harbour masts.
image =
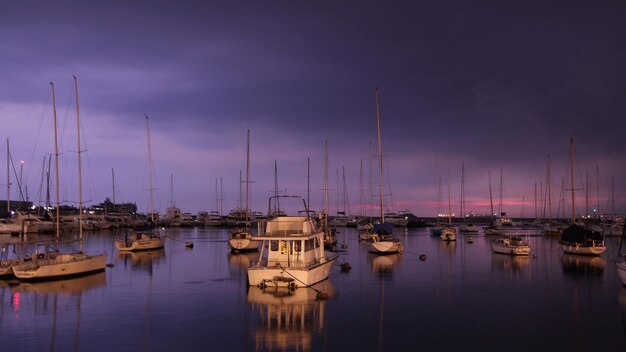
MULTIPOLYGON (((116 201, 147 210, 148 114, 160 211, 172 174, 183 211, 217 210, 216 178, 224 212, 234 208, 250 129, 254 210, 267 208, 274 161, 281 191, 305 196, 307 158, 311 207, 320 209, 327 140, 331 214, 342 168, 356 214, 361 161, 369 188, 378 87, 389 210, 434 215, 441 177, 443 206, 449 180, 458 213, 464 162, 469 211, 490 211, 489 170, 497 211, 502 170, 503 210, 534 216, 549 155, 554 217, 561 180, 571 188, 573 137, 577 212, 586 211, 589 175, 590 207, 599 189, 600 212, 611 211, 614 177, 623 213, 624 18, 619 1, 10 2, 0 12, 0 137, 18 174, 24 160, 23 184, 39 202, 54 82, 61 199, 77 203, 76 75, 87 205, 113 197, 114 169, 116 201)), ((569 204, 568 195, 568 217, 569 204)))

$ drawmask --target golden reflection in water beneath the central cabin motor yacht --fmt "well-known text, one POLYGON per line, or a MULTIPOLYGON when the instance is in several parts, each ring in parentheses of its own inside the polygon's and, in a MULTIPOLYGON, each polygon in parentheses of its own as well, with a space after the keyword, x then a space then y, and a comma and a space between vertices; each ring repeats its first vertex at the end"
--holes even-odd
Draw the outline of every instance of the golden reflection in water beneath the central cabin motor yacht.
POLYGON ((259 316, 259 327, 253 331, 256 350, 312 350, 313 337, 326 325, 326 300, 317 299, 318 292, 329 298, 335 295, 328 279, 296 289, 250 286, 248 305, 259 316))

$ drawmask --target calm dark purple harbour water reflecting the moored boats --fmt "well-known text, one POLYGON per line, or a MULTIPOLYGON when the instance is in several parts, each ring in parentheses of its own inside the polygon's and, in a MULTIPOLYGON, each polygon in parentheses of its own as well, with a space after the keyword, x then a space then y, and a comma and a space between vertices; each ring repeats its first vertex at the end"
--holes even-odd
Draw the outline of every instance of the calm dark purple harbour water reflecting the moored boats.
MULTIPOLYGON (((106 272, 10 286, 0 281, 2 351, 625 351, 618 238, 602 257, 562 254, 531 237, 532 258, 491 253, 489 237, 445 243, 396 229, 405 253, 368 254, 355 230, 318 289, 281 295, 246 284, 252 254, 231 255, 222 229, 167 230, 152 253, 118 253, 106 272), (425 261, 419 260, 426 254, 425 261)), ((3 238, 5 239, 5 238, 3 238)), ((461 238, 460 238, 461 239, 461 238)))

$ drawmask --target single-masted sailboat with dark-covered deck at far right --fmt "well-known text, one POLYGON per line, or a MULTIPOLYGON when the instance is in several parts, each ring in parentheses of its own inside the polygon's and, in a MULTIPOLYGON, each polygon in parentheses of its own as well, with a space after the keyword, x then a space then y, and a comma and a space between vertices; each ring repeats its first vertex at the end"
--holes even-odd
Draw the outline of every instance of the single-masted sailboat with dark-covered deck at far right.
POLYGON ((570 164, 572 181, 572 224, 563 230, 560 244, 569 254, 600 255, 606 251, 602 234, 576 223, 576 195, 574 194, 574 138, 570 141, 570 164))

